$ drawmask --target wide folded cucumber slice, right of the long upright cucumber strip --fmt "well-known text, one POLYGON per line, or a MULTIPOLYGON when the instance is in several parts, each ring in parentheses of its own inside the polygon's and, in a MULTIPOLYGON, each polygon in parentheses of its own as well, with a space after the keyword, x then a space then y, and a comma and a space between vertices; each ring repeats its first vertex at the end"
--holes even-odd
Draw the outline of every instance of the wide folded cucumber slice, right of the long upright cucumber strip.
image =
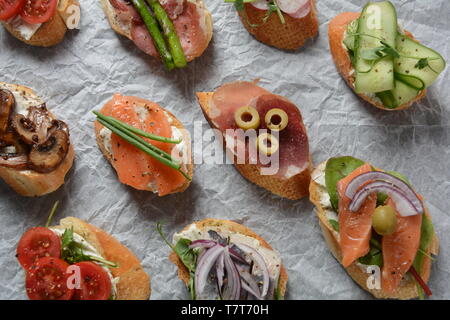
MULTIPOLYGON (((405 35, 397 36, 396 49, 401 56, 394 60, 395 72, 418 78, 425 84, 425 87, 430 86, 445 68, 445 60, 439 53, 405 35), (428 66, 416 67, 420 59, 427 59, 428 66)), ((402 81, 412 84, 408 80, 402 81)))

